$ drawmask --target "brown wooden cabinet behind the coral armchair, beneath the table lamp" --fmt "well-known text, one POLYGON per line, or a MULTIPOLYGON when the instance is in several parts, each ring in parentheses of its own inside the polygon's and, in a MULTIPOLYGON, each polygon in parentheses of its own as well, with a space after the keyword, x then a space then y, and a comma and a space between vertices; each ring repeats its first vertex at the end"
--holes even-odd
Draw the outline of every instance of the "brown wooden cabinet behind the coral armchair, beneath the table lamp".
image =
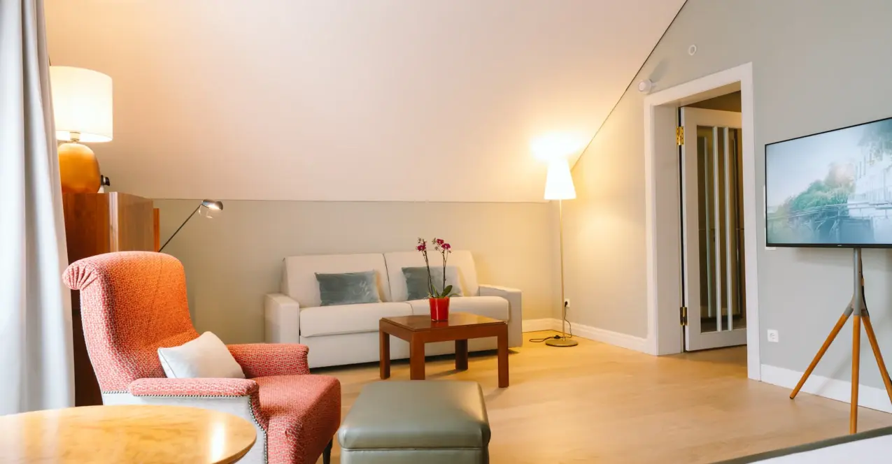
MULTIPOLYGON (((158 242, 158 213, 151 199, 120 192, 65 193, 65 236, 68 262, 112 251, 154 251, 158 242)), ((75 404, 102 404, 80 322, 80 295, 71 292, 74 338, 75 404)))

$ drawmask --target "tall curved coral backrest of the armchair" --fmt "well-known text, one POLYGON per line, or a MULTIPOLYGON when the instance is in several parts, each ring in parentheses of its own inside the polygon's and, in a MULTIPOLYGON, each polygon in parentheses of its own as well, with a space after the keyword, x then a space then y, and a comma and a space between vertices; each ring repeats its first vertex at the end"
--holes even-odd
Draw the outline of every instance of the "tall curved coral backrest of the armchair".
POLYGON ((80 319, 103 392, 164 377, 158 348, 198 337, 189 318, 186 273, 177 258, 147 251, 91 256, 62 275, 80 290, 80 319))

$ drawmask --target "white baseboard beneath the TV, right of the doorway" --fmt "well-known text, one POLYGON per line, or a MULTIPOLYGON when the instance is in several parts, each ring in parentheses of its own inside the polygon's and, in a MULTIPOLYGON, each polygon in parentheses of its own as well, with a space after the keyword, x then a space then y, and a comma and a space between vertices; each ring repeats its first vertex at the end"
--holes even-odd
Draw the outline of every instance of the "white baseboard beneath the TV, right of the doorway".
MULTIPOLYGON (((762 364, 762 381, 779 387, 793 389, 802 379, 803 372, 785 369, 782 367, 762 364)), ((831 400, 851 403, 852 382, 846 380, 830 379, 812 374, 805 381, 801 392, 823 396, 831 400)), ((858 387, 858 405, 877 411, 892 412, 892 403, 884 388, 868 387, 860 384, 858 387)))

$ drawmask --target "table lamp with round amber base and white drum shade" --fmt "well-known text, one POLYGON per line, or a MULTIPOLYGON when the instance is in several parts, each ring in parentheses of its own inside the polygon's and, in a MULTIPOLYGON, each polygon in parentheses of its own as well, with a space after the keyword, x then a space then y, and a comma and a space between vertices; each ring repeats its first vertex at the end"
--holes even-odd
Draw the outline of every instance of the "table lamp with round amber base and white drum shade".
POLYGON ((99 162, 83 142, 111 141, 111 77, 90 69, 50 66, 63 193, 99 191, 99 162))

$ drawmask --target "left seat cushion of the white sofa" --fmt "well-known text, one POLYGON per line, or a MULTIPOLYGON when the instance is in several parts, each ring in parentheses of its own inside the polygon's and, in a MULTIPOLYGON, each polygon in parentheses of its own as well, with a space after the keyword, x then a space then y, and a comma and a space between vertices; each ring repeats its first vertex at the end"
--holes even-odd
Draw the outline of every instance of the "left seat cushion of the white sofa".
POLYGON ((301 308, 301 337, 376 332, 382 317, 408 316, 411 313, 412 306, 406 303, 301 308))

